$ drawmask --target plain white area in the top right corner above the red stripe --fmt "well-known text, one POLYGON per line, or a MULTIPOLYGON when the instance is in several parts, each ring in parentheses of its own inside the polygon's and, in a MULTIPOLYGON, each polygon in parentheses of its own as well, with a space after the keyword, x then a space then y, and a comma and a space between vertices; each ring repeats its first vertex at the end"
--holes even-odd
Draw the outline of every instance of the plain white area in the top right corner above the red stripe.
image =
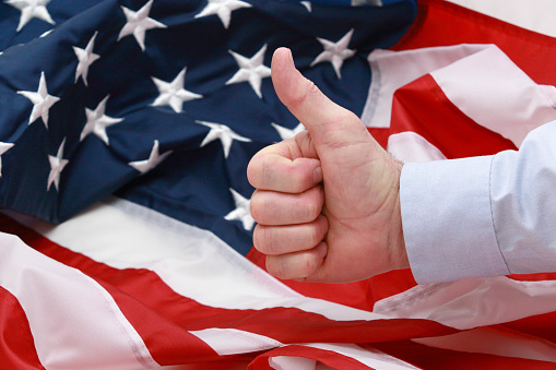
POLYGON ((447 0, 519 27, 556 37, 554 0, 447 0))

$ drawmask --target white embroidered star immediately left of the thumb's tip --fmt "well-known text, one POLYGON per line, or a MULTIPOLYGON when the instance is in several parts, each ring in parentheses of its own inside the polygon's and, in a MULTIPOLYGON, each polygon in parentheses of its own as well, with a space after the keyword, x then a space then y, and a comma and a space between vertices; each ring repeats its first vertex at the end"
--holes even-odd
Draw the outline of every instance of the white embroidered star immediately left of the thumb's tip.
POLYGON ((249 81, 257 96, 262 98, 261 80, 270 77, 270 68, 263 64, 267 45, 257 51, 251 59, 240 56, 232 50, 228 51, 239 65, 239 71, 237 71, 236 74, 226 82, 226 85, 249 81))

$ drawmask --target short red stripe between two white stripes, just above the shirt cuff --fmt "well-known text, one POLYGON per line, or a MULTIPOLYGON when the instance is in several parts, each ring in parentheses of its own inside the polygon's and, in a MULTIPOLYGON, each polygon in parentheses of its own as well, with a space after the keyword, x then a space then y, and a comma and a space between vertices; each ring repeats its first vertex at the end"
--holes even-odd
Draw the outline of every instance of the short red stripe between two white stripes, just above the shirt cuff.
POLYGON ((418 133, 448 158, 517 150, 508 139, 465 116, 430 74, 394 93, 390 130, 392 134, 405 131, 418 133))

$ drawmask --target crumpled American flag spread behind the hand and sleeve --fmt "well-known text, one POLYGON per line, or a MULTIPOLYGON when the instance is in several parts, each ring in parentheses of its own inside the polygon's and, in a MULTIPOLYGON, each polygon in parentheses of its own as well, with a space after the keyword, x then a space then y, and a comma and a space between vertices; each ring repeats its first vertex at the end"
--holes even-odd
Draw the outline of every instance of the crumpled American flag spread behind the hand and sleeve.
POLYGON ((0 369, 554 368, 555 274, 301 284, 251 248, 247 162, 303 129, 277 46, 406 162, 556 119, 521 14, 352 4, 0 3, 0 369))

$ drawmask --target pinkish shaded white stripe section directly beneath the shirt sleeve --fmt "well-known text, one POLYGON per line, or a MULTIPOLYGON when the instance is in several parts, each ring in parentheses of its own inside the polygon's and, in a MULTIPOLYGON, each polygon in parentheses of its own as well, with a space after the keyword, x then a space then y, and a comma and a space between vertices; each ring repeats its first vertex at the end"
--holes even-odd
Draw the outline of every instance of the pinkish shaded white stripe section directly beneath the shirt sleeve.
POLYGON ((556 282, 501 276, 417 285, 379 300, 374 311, 466 330, 556 311, 556 282))

